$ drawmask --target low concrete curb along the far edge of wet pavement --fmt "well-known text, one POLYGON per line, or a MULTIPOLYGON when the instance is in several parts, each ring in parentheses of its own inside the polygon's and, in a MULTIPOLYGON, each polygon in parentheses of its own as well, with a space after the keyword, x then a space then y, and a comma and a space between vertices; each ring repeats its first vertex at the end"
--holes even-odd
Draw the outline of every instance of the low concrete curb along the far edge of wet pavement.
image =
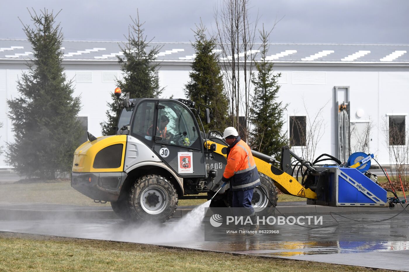
MULTIPOLYGON (((118 218, 110 207, 81 207, 81 206, 64 206, 50 204, 50 208, 33 209, 33 208, 11 208, 10 205, 1 207, 0 205, 0 221, 1 220, 61 220, 61 219, 79 219, 79 218, 94 218, 108 219, 118 218)), ((27 205, 28 207, 30 205, 27 205)), ((47 206, 45 206, 47 207, 47 206)), ((194 206, 180 207, 176 209, 173 217, 180 218, 193 210, 194 206)), ((354 214, 362 212, 374 213, 397 213, 402 211, 402 206, 396 205, 394 208, 387 207, 325 207, 315 205, 283 205, 276 207, 275 215, 280 213, 288 214, 328 214, 336 212, 340 214, 354 214)))

